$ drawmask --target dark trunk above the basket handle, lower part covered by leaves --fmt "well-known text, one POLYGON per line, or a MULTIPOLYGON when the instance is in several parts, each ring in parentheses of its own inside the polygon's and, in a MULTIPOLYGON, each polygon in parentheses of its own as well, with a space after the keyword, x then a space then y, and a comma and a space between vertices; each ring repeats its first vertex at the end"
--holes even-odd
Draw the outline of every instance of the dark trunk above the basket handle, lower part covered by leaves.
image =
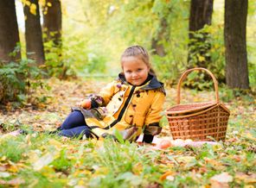
POLYGON ((210 61, 207 55, 210 49, 208 33, 197 34, 206 24, 211 25, 214 0, 191 0, 189 15, 189 65, 206 67, 210 61), (199 58, 199 56, 201 58, 199 58))

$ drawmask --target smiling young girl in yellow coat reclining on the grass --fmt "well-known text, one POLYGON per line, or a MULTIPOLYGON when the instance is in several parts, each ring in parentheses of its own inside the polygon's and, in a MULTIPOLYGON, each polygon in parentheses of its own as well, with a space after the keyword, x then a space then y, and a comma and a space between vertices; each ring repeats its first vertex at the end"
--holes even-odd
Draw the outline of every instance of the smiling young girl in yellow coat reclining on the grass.
POLYGON ((128 47, 121 56, 123 72, 99 94, 82 101, 62 123, 59 135, 67 137, 115 138, 136 141, 144 133, 151 142, 161 132, 159 121, 165 91, 151 69, 144 47, 128 47))

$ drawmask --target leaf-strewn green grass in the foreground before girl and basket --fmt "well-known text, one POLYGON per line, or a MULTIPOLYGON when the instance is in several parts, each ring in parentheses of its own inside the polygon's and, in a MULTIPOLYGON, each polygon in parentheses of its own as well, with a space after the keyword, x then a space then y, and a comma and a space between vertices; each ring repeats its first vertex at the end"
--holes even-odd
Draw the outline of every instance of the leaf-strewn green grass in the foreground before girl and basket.
MULTIPOLYGON (((31 136, 31 135, 30 135, 31 136)), ((1 164, 19 167, 3 178, 20 178, 22 187, 198 187, 210 185, 209 179, 221 172, 235 177, 237 172, 256 172, 255 153, 247 147, 255 142, 238 136, 238 141, 223 147, 170 147, 152 150, 135 143, 106 141, 62 141, 51 135, 37 135, 28 141, 24 135, 1 140, 1 164), (36 146, 36 147, 35 147, 36 146), (53 159, 35 169, 42 156, 53 159), (5 157, 5 158, 3 158, 5 157), (10 162, 11 161, 11 162, 10 162), (19 165, 17 165, 19 164, 19 165), (161 179, 173 172, 173 179, 161 179)), ((43 162, 43 161, 42 161, 43 162)), ((231 185, 243 186, 244 181, 231 185)), ((247 184, 248 185, 248 184, 247 184)))

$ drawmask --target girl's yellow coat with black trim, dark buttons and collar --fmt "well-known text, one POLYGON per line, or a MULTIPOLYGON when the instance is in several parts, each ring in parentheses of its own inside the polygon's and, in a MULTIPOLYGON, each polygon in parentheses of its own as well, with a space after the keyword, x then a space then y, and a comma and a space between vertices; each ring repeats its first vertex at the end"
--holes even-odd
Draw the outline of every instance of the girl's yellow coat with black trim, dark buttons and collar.
POLYGON ((125 140, 134 141, 144 132, 157 135, 163 110, 165 91, 156 77, 141 86, 129 85, 119 74, 117 80, 106 85, 99 94, 91 97, 99 108, 80 110, 86 124, 96 137, 115 135, 117 129, 125 140))

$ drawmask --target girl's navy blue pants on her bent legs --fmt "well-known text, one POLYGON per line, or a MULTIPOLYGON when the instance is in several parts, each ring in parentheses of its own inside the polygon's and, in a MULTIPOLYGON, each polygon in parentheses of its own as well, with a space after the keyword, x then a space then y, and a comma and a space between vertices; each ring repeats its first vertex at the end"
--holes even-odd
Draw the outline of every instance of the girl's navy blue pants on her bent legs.
POLYGON ((67 137, 92 138, 91 128, 86 125, 85 118, 80 111, 71 112, 59 128, 59 135, 67 137))

